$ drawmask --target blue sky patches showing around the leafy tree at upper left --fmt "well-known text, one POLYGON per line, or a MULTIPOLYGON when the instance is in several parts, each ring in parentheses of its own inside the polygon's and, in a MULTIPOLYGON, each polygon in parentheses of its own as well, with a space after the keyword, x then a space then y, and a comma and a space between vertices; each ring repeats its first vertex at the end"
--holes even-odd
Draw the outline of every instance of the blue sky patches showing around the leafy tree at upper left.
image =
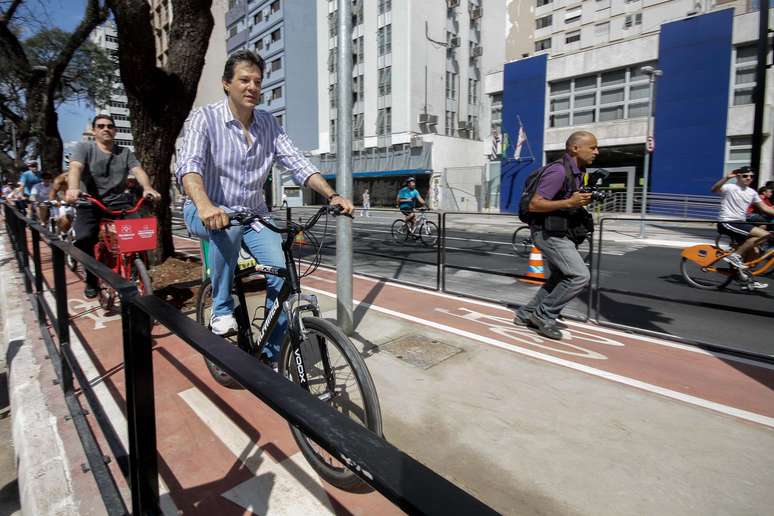
MULTIPOLYGON (((22 10, 21 15, 30 15, 31 19, 38 20, 43 26, 59 27, 71 31, 83 19, 86 1, 27 0, 24 6, 26 12, 22 10)), ((67 149, 68 143, 80 141, 86 122, 94 116, 94 108, 84 103, 71 102, 60 106, 57 113, 59 114, 59 132, 62 135, 65 149, 67 149)))

